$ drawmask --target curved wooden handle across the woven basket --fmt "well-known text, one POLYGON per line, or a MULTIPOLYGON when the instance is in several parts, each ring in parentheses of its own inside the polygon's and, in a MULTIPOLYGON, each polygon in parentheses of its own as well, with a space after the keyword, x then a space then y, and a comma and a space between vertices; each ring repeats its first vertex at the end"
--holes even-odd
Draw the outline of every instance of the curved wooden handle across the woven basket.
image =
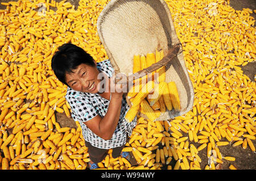
POLYGON ((129 75, 129 77, 126 77, 126 79, 123 77, 121 79, 115 79, 115 83, 122 84, 125 82, 128 83, 130 81, 134 81, 135 79, 144 77, 144 75, 148 73, 152 73, 153 71, 158 70, 162 66, 166 66, 168 62, 170 62, 174 57, 177 56, 177 54, 179 54, 180 49, 181 49, 181 44, 174 45, 174 47, 168 51, 167 55, 164 56, 163 59, 160 60, 159 62, 156 62, 155 64, 152 64, 148 68, 140 70, 137 73, 129 75))

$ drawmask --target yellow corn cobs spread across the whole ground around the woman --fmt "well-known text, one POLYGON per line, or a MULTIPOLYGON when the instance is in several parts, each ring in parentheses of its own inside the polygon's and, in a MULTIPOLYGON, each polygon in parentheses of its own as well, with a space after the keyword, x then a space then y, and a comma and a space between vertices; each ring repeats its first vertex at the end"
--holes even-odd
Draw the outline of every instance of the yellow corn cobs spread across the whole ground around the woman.
MULTIPOLYGON (((51 57, 71 41, 105 60, 96 21, 108 2, 81 0, 77 10, 66 1, 1 3, 6 6, 0 10, 1 169, 88 167, 79 124, 61 128, 56 120, 55 112, 68 117, 70 112, 67 87, 55 78, 51 57)), ((253 11, 236 11, 223 0, 166 2, 193 82, 193 109, 168 121, 140 117, 123 149, 132 151, 137 165, 112 158, 110 149, 101 169, 216 169, 236 159, 222 155, 222 145, 255 151, 256 86, 238 66, 255 61, 253 11), (199 151, 207 154, 208 165, 200 164, 199 151)))

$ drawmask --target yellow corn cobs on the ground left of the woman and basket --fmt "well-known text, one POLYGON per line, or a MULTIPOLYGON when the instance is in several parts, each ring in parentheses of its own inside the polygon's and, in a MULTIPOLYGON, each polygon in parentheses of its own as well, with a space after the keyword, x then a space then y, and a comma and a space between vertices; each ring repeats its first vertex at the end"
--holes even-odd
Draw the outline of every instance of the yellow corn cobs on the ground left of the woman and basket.
POLYGON ((70 112, 67 86, 53 74, 51 58, 71 41, 105 59, 96 33, 105 3, 80 1, 77 10, 65 1, 1 3, 1 169, 86 169, 89 154, 79 124, 61 128, 56 121, 56 112, 70 112))

